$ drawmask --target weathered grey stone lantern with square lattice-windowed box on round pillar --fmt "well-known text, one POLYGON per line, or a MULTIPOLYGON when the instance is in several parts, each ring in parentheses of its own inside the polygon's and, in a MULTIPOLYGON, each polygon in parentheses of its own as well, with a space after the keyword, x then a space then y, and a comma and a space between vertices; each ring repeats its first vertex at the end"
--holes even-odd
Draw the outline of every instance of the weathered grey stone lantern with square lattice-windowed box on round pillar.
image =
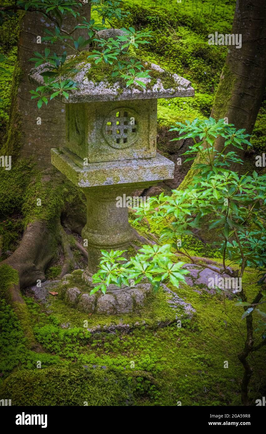
MULTIPOLYGON (((31 71, 32 83, 43 84, 44 67, 31 71)), ((174 163, 156 153, 157 99, 193 96, 194 89, 176 74, 165 89, 160 78, 165 72, 154 64, 149 74, 156 79, 143 79, 146 89, 95 84, 86 76, 90 68, 86 62, 79 66, 73 78, 78 89, 68 100, 59 97, 66 106, 66 141, 64 148, 52 149, 52 164, 87 197, 82 237, 88 240, 91 274, 101 250, 125 250, 135 237, 128 208, 118 207, 117 197, 173 178, 174 163)))

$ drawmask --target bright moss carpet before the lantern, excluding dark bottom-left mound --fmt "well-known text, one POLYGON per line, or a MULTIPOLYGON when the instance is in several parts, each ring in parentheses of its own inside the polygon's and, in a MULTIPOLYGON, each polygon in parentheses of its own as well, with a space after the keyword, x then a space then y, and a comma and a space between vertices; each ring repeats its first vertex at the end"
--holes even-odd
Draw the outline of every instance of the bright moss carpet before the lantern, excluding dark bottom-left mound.
MULTIPOLYGON (((252 270, 247 270, 243 282, 250 281, 256 281, 256 275, 252 270)), ((130 371, 134 362, 132 374, 136 372, 138 375, 137 372, 141 370, 151 375, 158 388, 152 399, 148 397, 145 401, 140 401, 139 405, 174 406, 177 401, 182 401, 182 405, 239 405, 243 371, 237 353, 242 349, 243 342, 236 324, 244 333, 245 322, 240 322, 242 309, 234 306, 235 300, 226 299, 225 315, 222 297, 205 293, 201 286, 191 288, 182 285, 179 289, 171 289, 191 302, 197 310, 194 319, 184 320, 181 328, 173 324, 156 330, 135 329, 128 335, 98 333, 91 336, 79 325, 84 319, 90 321, 85 314, 80 319, 78 316, 74 319, 74 313, 73 316, 69 313, 64 318, 59 317, 58 311, 47 316, 40 312, 33 301, 30 302, 32 307, 29 306, 29 309, 36 322, 36 337, 49 352, 60 355, 65 360, 76 361, 77 364, 104 365, 111 370, 119 368, 126 372, 130 371), (195 289, 200 293, 195 292, 195 289), (59 322, 62 319, 73 323, 77 321, 78 327, 61 329, 59 322), (224 369, 224 360, 229 362, 228 369, 224 369)), ((256 291, 256 285, 247 286, 248 299, 252 299, 256 291)), ((75 309, 69 309, 70 311, 75 309)), ((258 319, 255 315, 255 326, 258 319)), ((260 339, 260 332, 255 332, 255 339, 260 339)), ((251 398, 257 398, 263 391, 264 350, 256 353, 258 371, 255 370, 251 379, 251 398)), ((36 378, 31 372, 25 377, 26 380, 33 381, 32 375, 36 378)), ((71 370, 69 376, 71 377, 71 370)), ((63 379, 62 386, 58 385, 56 400, 59 401, 56 402, 61 402, 64 395, 65 404, 72 405, 71 397, 68 393, 65 395, 64 381, 63 379)), ((47 380, 47 387, 50 397, 50 391, 54 388, 53 379, 47 380)), ((13 389, 16 390, 14 382, 9 391, 13 389)), ((39 385, 36 391, 38 390, 39 385)), ((32 395, 30 397, 32 399, 32 395)))

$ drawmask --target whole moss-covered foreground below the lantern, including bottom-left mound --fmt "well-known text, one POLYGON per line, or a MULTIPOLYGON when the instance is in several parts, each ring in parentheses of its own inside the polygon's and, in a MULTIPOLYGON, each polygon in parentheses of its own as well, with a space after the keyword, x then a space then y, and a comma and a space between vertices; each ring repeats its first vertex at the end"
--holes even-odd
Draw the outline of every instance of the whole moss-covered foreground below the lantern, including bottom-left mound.
MULTIPOLYGON (((244 282, 254 280, 252 270, 248 270, 244 282)), ((2 393, 8 392, 16 404, 83 405, 83 401, 88 401, 85 397, 89 390, 91 394, 94 390, 88 386, 88 376, 92 375, 97 376, 96 380, 90 377, 98 387, 95 402, 104 405, 104 395, 109 399, 109 394, 117 393, 113 389, 110 391, 112 378, 118 375, 120 381, 126 381, 124 374, 127 387, 128 381, 139 378, 139 393, 136 384, 133 393, 134 403, 138 405, 172 406, 177 401, 182 405, 239 405, 242 367, 237 352, 243 347, 240 332, 245 332, 245 324, 240 321, 241 309, 234 306, 233 300, 224 301, 222 296, 212 296, 201 286, 184 285, 171 289, 197 309, 194 318, 182 321, 181 328, 173 323, 160 329, 145 330, 143 327, 129 334, 91 335, 83 326, 84 320, 88 320, 89 326, 96 325, 99 322, 97 316, 86 316, 74 309, 66 312, 60 300, 54 301, 47 313, 43 305, 25 297, 35 337, 44 351, 40 353, 27 348, 16 315, 2 301, 2 393), (68 329, 62 329, 62 321, 70 322, 68 329), (228 361, 228 368, 224 368, 225 361, 228 361), (39 362, 41 368, 37 368, 39 362), (91 374, 84 371, 84 365, 91 374), (95 372, 91 371, 92 365, 95 372), (102 381, 102 369, 106 370, 107 384, 102 381), (13 374, 8 377, 11 372, 13 374), (77 375, 78 385, 73 388, 73 376, 77 378, 77 375)), ((248 286, 249 299, 255 292, 254 285, 248 286)), ((258 318, 255 316, 254 320, 258 318)), ((255 335, 260 339, 259 331, 255 335)), ((262 396, 266 385, 263 377, 265 352, 254 354, 252 364, 254 375, 250 397, 255 399, 262 396)), ((113 401, 110 403, 115 405, 113 401)), ((120 405, 127 404, 130 402, 120 401, 120 405)))

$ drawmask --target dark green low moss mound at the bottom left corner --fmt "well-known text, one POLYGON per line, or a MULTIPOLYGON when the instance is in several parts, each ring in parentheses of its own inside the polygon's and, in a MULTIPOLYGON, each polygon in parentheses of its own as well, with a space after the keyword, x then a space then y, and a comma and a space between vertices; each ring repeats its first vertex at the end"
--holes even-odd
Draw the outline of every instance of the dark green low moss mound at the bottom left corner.
POLYGON ((145 401, 154 390, 145 372, 130 375, 68 365, 16 372, 5 381, 1 395, 12 405, 119 406, 145 401))

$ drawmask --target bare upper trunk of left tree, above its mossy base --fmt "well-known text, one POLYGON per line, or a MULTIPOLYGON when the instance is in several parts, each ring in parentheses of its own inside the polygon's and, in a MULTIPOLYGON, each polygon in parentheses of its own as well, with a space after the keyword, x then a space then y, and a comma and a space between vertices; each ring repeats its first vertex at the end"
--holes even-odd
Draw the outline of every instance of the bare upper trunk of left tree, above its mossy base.
MULTIPOLYGON (((90 21, 91 3, 82 7, 82 15, 90 21)), ((62 28, 71 31, 78 24, 71 15, 66 15, 62 21, 62 28)), ((10 121, 3 145, 2 153, 12 155, 13 159, 20 155, 22 158, 32 158, 39 168, 51 167, 51 148, 64 145, 65 142, 65 104, 56 99, 49 101, 48 106, 37 109, 36 100, 31 100, 29 91, 33 89, 29 83, 28 74, 34 67, 29 62, 34 57, 33 52, 44 53, 46 47, 51 52, 62 54, 65 50, 72 54, 70 47, 61 44, 37 43, 37 36, 47 36, 45 29, 55 30, 56 24, 39 12, 23 13, 20 17, 20 35, 18 47, 18 62, 13 78, 10 121), (37 125, 37 117, 41 118, 41 125, 37 125)), ((75 39, 84 33, 84 29, 75 30, 75 39)), ((84 34, 88 38, 87 34, 84 34)), ((74 51, 73 51, 74 53, 74 51)))

